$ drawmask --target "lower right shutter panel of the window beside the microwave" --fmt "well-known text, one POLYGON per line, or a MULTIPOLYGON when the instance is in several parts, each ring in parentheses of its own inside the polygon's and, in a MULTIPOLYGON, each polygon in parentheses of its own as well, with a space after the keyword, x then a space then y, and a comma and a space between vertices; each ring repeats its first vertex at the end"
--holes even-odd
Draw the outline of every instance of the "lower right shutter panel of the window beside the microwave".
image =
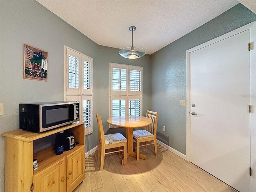
POLYGON ((92 96, 82 96, 82 120, 84 124, 85 134, 92 133, 92 96))

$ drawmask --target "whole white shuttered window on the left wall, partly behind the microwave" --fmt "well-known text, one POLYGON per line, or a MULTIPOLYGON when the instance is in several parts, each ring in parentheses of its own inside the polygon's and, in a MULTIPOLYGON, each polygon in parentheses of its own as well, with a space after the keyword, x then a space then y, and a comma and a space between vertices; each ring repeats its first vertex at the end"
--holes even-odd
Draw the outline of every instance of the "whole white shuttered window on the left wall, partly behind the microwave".
POLYGON ((64 46, 65 72, 64 72, 64 95, 66 101, 79 101, 80 121, 84 124, 85 134, 93 132, 92 116, 92 74, 93 59, 64 46))

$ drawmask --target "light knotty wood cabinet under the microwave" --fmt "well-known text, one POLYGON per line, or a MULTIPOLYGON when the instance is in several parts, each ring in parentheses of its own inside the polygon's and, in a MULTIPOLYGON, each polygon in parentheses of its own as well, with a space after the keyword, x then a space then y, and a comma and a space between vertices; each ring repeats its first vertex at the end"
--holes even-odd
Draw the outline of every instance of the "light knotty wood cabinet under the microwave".
POLYGON ((84 159, 83 121, 47 132, 34 133, 25 130, 5 132, 5 192, 72 192, 83 180, 84 159), (34 151, 34 140, 58 133, 74 134, 79 142, 72 150, 56 155, 52 147, 34 151), (33 158, 38 169, 33 171, 33 158))

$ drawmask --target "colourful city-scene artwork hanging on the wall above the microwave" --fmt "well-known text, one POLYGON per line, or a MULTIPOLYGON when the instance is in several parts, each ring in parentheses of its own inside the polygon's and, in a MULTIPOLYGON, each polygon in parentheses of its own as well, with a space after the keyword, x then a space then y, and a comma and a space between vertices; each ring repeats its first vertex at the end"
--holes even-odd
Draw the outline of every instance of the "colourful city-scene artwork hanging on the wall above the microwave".
POLYGON ((48 52, 24 44, 24 79, 47 81, 48 52))

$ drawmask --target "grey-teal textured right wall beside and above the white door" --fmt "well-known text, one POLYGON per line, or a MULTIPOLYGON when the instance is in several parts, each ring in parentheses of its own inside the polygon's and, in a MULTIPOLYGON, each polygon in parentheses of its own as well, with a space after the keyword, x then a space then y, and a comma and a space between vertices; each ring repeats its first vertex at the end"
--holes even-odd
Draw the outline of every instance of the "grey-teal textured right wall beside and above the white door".
POLYGON ((151 55, 151 106, 159 112, 158 140, 186 154, 186 106, 180 106, 180 100, 186 100, 186 50, 255 20, 256 14, 238 4, 151 55))

